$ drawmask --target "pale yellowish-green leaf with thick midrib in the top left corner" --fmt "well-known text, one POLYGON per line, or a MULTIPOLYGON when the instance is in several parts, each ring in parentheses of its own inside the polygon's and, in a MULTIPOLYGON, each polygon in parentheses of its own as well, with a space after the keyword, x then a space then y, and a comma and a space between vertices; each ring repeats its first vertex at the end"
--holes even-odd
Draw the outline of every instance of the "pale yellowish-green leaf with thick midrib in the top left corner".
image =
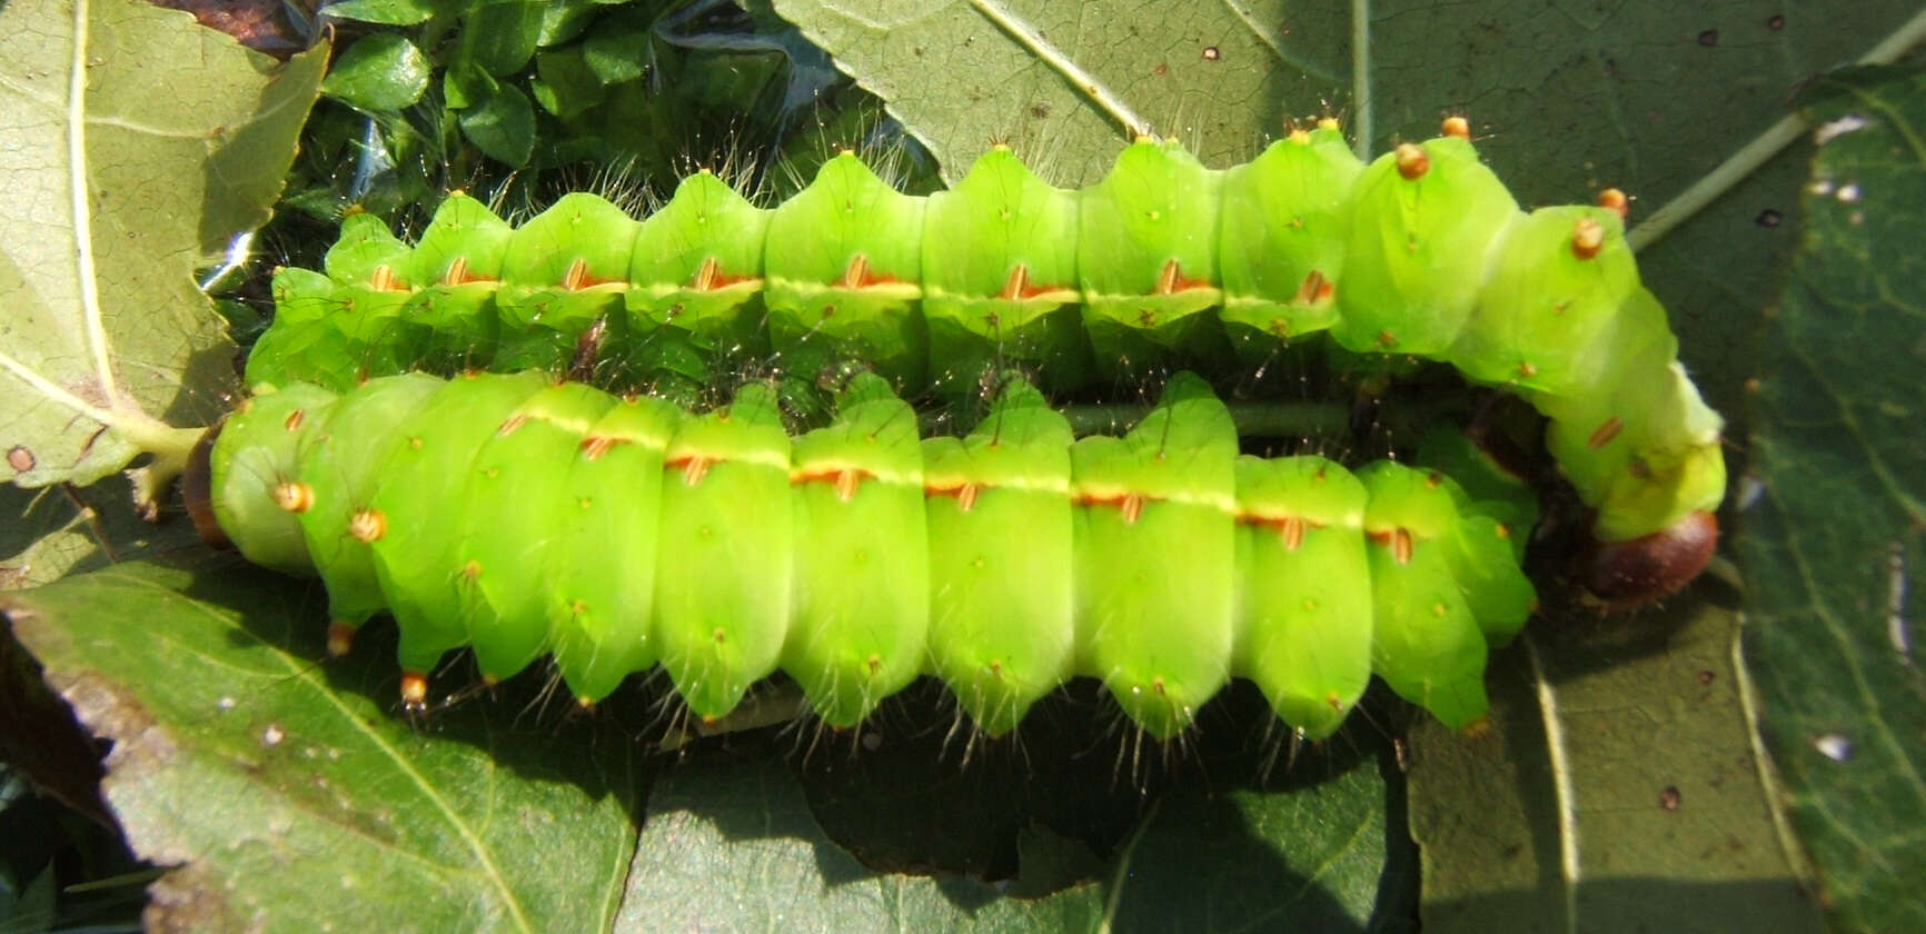
POLYGON ((0 480, 152 453, 152 501, 233 383, 195 268, 268 220, 325 60, 135 0, 0 6, 0 480))

